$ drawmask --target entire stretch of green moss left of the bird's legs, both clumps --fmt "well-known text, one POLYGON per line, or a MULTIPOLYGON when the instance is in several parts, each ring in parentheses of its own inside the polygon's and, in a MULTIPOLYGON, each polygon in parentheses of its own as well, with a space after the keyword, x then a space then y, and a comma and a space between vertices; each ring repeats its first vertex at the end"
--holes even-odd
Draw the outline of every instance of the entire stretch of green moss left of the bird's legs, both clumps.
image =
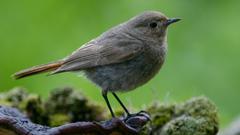
POLYGON ((89 101, 72 88, 55 89, 45 101, 22 88, 14 88, 0 94, 0 104, 16 107, 31 121, 47 126, 76 121, 101 121, 106 118, 102 106, 89 101))

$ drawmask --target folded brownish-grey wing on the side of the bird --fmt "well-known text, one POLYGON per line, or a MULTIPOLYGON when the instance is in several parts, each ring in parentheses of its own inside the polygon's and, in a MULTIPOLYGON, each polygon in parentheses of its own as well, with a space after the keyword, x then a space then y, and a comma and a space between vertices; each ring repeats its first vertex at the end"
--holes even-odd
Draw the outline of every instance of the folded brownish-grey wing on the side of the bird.
POLYGON ((143 46, 134 40, 112 39, 93 41, 80 47, 67 57, 63 65, 53 73, 78 71, 96 66, 120 63, 140 54, 143 46))

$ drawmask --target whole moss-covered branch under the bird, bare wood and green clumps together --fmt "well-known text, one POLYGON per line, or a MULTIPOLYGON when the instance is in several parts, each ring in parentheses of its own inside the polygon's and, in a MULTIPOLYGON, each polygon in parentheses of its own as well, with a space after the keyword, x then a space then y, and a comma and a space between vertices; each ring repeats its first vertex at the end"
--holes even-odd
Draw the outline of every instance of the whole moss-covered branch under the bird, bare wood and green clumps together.
POLYGON ((145 108, 151 122, 144 112, 104 121, 109 119, 104 107, 71 88, 54 90, 44 101, 18 88, 1 94, 0 103, 5 105, 0 108, 0 135, 216 135, 218 132, 216 107, 206 97, 181 104, 155 102, 145 108))

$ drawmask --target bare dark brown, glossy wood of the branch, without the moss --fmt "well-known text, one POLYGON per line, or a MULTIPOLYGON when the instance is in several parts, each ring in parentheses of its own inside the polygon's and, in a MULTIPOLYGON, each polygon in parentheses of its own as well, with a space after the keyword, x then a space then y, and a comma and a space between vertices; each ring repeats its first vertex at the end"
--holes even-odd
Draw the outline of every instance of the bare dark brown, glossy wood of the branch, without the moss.
POLYGON ((148 121, 149 115, 140 112, 127 118, 113 118, 103 122, 76 122, 50 128, 32 123, 17 109, 4 106, 0 107, 0 128, 8 132, 14 131, 15 134, 20 135, 138 134, 148 121))

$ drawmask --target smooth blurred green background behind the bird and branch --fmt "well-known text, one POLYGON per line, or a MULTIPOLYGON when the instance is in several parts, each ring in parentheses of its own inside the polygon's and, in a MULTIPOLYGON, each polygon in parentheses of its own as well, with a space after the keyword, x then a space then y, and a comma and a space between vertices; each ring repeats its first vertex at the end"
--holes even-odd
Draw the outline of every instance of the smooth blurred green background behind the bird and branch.
MULTIPOLYGON (((1 0, 0 90, 22 86, 47 96, 64 86, 103 102, 84 77, 64 73, 13 80, 21 69, 63 58, 108 28, 145 10, 183 20, 169 28, 169 53, 160 73, 136 91, 121 94, 128 106, 170 103, 206 95, 224 126, 240 114, 239 0, 1 0)), ((114 107, 119 107, 112 100, 114 107)))

